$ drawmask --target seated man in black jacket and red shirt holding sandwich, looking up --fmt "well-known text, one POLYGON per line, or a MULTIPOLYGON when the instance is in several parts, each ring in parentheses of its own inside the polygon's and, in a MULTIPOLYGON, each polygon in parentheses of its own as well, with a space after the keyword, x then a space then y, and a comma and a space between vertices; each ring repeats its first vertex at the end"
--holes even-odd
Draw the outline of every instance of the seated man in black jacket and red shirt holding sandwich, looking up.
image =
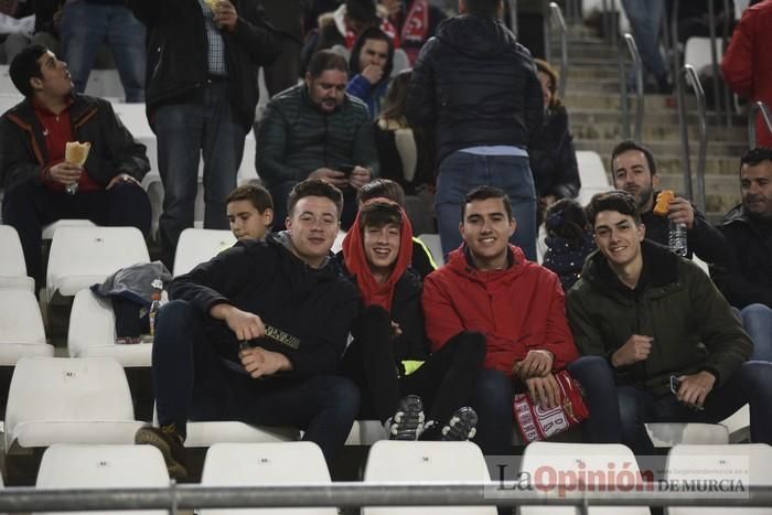
POLYGON ((150 201, 139 181, 150 163, 110 103, 74 93, 66 63, 44 46, 24 49, 9 72, 25 98, 0 119, 2 218, 19 233, 37 291, 43 226, 87 218, 148 235, 150 201), (85 164, 65 160, 68 141, 90 143, 85 164))

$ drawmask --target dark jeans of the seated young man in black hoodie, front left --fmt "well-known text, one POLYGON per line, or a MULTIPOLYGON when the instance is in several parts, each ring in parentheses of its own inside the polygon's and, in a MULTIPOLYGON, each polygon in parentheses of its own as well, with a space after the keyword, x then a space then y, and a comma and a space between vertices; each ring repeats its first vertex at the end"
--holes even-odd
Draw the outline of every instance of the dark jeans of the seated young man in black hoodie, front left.
POLYGON ((204 335, 202 314, 175 300, 158 314, 152 376, 160 425, 187 420, 238 420, 292 426, 317 443, 330 462, 343 447, 360 410, 360 391, 337 376, 257 380, 226 367, 204 335))

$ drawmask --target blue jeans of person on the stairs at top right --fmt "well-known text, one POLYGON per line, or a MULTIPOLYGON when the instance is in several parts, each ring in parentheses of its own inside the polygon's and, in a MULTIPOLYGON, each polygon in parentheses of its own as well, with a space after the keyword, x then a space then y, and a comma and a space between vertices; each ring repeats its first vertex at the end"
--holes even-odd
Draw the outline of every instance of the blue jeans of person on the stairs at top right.
POLYGON ((660 28, 662 26, 663 0, 622 0, 624 12, 630 19, 630 26, 635 36, 635 44, 646 73, 662 77, 667 73, 665 62, 660 53, 660 28))

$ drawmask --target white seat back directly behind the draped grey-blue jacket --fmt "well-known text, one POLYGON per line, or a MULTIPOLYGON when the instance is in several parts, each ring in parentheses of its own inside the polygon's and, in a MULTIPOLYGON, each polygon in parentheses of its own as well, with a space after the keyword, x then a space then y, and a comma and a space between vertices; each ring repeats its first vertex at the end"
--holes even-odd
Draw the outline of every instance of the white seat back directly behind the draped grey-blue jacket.
POLYGON ((46 291, 74 296, 107 276, 138 262, 150 262, 142 233, 135 227, 62 227, 51 243, 46 291))

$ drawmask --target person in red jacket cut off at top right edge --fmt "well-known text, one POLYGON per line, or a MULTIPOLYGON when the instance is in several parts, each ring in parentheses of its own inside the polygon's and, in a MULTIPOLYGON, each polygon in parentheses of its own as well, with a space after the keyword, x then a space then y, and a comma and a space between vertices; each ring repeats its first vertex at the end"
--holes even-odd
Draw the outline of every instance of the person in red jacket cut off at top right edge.
MULTIPOLYGON (((749 7, 735 29, 721 61, 723 79, 738 95, 761 100, 772 109, 772 0, 749 7)), ((772 147, 772 132, 759 115, 755 124, 759 147, 772 147)))

